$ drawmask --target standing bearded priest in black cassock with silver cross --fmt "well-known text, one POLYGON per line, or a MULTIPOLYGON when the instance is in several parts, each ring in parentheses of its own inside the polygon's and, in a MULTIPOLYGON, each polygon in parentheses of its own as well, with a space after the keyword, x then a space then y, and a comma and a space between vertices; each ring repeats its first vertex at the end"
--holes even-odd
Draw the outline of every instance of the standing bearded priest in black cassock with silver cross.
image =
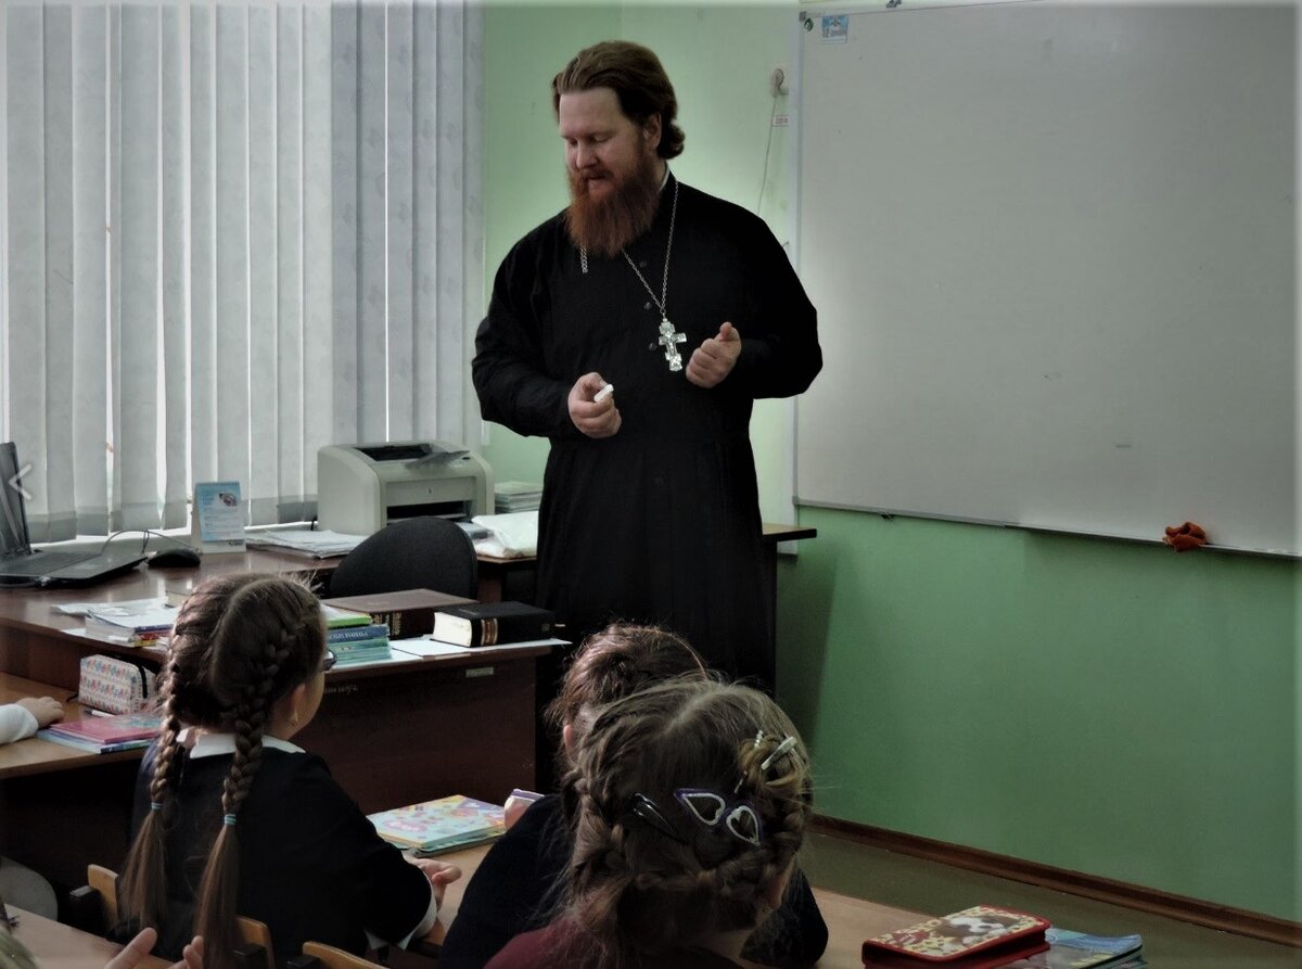
POLYGON ((473 365, 487 419, 551 439, 538 602, 566 638, 656 623, 771 689, 750 413, 822 367, 814 306, 763 220, 669 172, 655 53, 589 47, 552 104, 570 204, 506 255, 473 365))

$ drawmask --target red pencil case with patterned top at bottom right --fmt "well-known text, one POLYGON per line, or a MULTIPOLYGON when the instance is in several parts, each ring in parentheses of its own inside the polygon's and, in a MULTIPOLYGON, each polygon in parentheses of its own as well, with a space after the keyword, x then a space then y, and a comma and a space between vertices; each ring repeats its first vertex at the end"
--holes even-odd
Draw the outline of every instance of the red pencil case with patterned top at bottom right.
POLYGON ((974 905, 863 942, 868 966, 992 969, 1048 948, 1048 921, 993 905, 974 905))

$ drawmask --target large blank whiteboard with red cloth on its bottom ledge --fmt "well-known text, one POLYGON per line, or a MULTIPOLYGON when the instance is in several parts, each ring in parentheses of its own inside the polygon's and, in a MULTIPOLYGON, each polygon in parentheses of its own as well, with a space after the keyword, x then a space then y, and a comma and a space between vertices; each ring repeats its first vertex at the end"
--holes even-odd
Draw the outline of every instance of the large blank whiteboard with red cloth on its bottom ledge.
POLYGON ((1297 554, 1293 8, 828 13, 797 501, 1297 554))

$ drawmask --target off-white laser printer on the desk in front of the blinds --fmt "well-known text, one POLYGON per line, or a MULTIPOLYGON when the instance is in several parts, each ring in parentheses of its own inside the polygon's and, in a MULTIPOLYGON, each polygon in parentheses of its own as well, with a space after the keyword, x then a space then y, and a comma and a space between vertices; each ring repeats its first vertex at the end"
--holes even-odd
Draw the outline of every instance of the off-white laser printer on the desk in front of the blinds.
POLYGON ((316 518, 323 529, 370 535, 392 521, 492 514, 492 470, 440 440, 331 444, 316 452, 316 518))

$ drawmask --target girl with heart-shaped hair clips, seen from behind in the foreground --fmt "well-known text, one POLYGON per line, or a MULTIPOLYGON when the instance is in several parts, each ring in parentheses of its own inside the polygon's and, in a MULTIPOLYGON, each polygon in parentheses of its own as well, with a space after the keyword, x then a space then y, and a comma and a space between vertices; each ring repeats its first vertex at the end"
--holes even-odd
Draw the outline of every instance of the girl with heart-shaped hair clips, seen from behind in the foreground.
POLYGON ((560 917, 488 969, 733 969, 805 836, 805 748, 763 693, 702 679, 596 712, 560 917))

